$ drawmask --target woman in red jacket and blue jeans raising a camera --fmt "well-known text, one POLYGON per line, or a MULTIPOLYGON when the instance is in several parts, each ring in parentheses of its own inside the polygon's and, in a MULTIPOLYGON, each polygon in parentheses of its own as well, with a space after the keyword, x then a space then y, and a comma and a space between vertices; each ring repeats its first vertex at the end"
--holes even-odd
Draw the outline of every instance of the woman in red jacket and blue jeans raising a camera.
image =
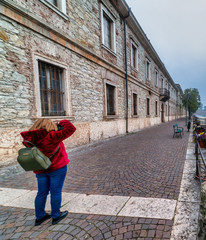
POLYGON ((52 224, 57 224, 68 214, 68 211, 60 212, 62 200, 62 188, 67 173, 69 159, 62 142, 70 137, 76 128, 68 120, 62 120, 59 124, 49 119, 39 119, 29 129, 21 132, 24 140, 32 142, 47 157, 59 146, 59 150, 52 157, 52 164, 43 171, 34 171, 37 177, 38 193, 35 198, 35 226, 52 217, 52 224), (47 195, 51 195, 51 214, 45 212, 47 195))

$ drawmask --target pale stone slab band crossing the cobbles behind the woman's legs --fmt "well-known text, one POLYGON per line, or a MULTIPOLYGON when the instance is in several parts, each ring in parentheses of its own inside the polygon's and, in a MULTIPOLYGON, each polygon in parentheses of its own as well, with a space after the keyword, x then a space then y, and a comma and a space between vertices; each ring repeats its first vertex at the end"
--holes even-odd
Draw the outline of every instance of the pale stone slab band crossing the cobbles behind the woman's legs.
MULTIPOLYGON (((14 188, 0 188, 0 205, 34 208, 37 191, 14 188)), ((176 200, 163 198, 142 198, 126 196, 62 194, 62 209, 72 213, 100 214, 123 217, 162 218, 172 220, 176 200), (149 209, 149 211, 147 211, 149 209)), ((50 197, 46 210, 50 211, 50 197)))

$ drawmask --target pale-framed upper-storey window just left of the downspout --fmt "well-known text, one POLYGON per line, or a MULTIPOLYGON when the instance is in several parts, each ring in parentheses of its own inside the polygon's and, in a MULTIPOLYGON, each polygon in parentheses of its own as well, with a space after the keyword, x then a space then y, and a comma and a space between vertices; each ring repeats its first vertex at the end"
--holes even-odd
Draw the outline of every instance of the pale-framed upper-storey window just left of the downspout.
POLYGON ((115 45, 115 20, 112 14, 101 5, 101 21, 102 21, 102 43, 104 46, 116 52, 115 45))

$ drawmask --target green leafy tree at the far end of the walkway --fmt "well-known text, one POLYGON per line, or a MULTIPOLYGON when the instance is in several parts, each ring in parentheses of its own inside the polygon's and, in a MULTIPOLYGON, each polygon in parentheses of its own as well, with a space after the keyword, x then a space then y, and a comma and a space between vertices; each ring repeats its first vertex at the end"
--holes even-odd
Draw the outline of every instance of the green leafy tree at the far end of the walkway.
POLYGON ((197 111, 201 105, 200 94, 197 88, 187 88, 182 97, 182 103, 189 112, 189 117, 197 111))

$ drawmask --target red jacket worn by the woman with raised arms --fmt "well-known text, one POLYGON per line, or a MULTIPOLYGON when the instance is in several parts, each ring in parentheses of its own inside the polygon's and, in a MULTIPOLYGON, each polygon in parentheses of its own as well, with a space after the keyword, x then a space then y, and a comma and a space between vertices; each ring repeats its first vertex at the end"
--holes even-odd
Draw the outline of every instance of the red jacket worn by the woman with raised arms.
POLYGON ((68 120, 60 121, 59 125, 63 126, 64 129, 51 132, 47 132, 45 129, 21 132, 21 136, 24 140, 35 144, 35 146, 47 157, 50 157, 60 144, 58 152, 51 158, 52 164, 50 167, 47 170, 34 171, 34 173, 53 172, 69 163, 64 143, 62 141, 70 137, 75 132, 76 128, 68 120))

